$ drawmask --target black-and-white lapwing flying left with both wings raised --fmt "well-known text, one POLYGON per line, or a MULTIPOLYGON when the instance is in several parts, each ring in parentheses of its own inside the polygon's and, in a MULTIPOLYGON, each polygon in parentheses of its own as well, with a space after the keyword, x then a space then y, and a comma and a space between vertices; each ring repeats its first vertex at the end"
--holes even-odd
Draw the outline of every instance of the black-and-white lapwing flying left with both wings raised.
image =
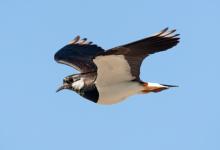
POLYGON ((144 82, 139 77, 145 57, 179 43, 179 34, 175 34, 175 31, 165 28, 153 36, 106 51, 86 38, 77 36, 54 55, 58 63, 80 72, 65 77, 57 92, 69 89, 92 102, 114 104, 134 94, 176 87, 144 82))

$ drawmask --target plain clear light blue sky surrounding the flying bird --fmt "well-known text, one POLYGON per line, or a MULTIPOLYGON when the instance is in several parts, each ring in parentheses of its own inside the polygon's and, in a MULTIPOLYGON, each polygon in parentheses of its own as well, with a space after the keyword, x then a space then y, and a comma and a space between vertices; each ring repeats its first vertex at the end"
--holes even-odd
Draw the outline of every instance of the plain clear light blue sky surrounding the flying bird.
POLYGON ((217 0, 2 0, 1 150, 219 150, 217 0), (55 93, 54 53, 76 35, 105 49, 176 28, 180 44, 148 57, 141 78, 180 87, 117 105, 55 93))

